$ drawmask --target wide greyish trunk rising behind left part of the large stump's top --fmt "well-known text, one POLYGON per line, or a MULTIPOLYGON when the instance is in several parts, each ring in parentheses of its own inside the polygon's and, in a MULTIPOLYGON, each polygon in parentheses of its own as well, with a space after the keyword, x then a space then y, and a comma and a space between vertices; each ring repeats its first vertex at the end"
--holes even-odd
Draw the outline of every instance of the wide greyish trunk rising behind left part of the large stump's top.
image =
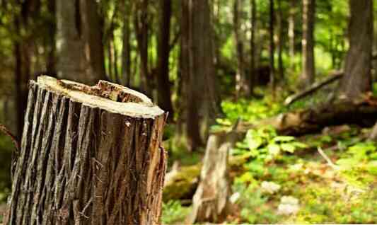
POLYGON ((87 83, 79 0, 57 1, 57 76, 87 83))

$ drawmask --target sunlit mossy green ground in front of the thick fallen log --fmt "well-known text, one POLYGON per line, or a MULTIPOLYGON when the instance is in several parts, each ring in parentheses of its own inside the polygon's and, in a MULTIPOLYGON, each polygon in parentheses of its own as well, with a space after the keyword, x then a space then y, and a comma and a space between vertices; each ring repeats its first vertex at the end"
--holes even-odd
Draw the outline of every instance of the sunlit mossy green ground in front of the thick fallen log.
MULTIPOLYGON (((226 223, 375 224, 377 147, 361 141, 365 132, 349 125, 327 127, 320 134, 284 142, 299 142, 304 148, 268 160, 268 154, 260 154, 245 163, 233 182, 233 207, 226 223), (318 149, 323 149, 322 155, 318 149)), ((188 213, 190 207, 168 202, 163 222, 182 224, 188 213)))

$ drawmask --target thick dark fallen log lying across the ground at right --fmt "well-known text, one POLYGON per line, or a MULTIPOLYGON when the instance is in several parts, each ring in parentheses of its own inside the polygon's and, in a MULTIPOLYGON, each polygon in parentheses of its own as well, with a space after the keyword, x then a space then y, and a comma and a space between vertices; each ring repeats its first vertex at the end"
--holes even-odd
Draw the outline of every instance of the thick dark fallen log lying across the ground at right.
POLYGON ((294 110, 262 120, 257 124, 243 122, 238 132, 244 133, 251 128, 272 126, 279 134, 299 136, 334 125, 356 124, 361 127, 370 127, 376 120, 377 98, 366 96, 354 101, 343 100, 318 105, 316 108, 294 110))

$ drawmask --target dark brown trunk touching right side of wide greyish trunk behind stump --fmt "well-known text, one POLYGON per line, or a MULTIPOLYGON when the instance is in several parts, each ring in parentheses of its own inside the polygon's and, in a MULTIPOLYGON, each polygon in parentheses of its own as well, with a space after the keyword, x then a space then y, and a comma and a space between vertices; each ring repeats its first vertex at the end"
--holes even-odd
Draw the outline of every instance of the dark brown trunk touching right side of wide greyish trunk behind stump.
POLYGON ((106 80, 105 53, 103 47, 103 17, 100 15, 98 2, 79 0, 81 28, 86 57, 86 76, 88 83, 94 84, 99 79, 106 80))

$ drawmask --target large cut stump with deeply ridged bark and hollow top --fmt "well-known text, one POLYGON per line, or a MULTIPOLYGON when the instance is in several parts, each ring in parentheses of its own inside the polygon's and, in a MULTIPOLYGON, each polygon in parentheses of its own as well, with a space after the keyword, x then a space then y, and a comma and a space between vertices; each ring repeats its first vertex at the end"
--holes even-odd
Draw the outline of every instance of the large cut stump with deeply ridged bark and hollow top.
POLYGON ((114 83, 30 81, 6 224, 160 224, 165 121, 114 83))

